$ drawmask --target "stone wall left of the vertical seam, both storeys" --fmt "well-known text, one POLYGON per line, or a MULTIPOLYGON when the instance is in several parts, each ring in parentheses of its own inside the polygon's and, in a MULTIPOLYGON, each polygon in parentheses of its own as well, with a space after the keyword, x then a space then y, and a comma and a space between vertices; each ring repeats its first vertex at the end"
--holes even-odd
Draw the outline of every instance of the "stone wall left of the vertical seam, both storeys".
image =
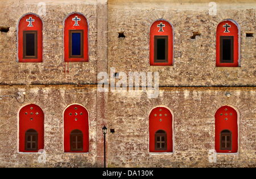
MULTIPOLYGON (((100 37, 97 29, 104 23, 97 20, 98 1, 40 2, 0 1, 0 27, 9 27, 8 32, 0 32, 0 96, 16 96, 20 102, 14 97, 0 100, 3 114, 0 117, 0 167, 99 167, 102 161, 98 162, 98 153, 102 152, 97 149, 102 150, 102 144, 97 140, 100 120, 97 120, 97 86, 93 84, 97 84, 97 54, 102 53, 97 46, 100 37), (43 11, 44 5, 46 11, 43 11), (42 63, 17 62, 18 21, 30 12, 38 14, 43 21, 42 63), (80 12, 88 20, 89 62, 64 62, 63 21, 72 12, 80 12), (26 93, 24 103, 23 92, 26 93), (44 112, 46 163, 38 161, 42 153, 18 152, 18 113, 22 106, 31 103, 44 112), (71 104, 85 106, 89 112, 89 153, 64 153, 63 112, 71 104)), ((104 6, 103 1, 99 4, 104 6)))

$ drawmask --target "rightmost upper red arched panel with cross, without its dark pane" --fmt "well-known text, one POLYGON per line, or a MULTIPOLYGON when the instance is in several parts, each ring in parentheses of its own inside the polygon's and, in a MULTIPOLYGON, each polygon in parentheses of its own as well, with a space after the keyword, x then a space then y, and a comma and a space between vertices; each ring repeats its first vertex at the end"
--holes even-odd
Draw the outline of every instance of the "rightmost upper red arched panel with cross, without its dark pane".
POLYGON ((224 20, 217 26, 216 66, 238 67, 240 61, 240 27, 234 20, 224 20), (233 37, 233 62, 221 61, 221 37, 233 37))

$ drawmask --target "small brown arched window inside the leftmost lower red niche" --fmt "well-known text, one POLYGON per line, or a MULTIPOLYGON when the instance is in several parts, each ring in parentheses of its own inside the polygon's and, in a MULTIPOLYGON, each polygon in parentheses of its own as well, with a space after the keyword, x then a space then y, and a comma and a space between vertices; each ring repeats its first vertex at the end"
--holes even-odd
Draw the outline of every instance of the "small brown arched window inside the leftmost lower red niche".
POLYGON ((38 151, 38 132, 34 129, 25 133, 25 151, 38 151))

